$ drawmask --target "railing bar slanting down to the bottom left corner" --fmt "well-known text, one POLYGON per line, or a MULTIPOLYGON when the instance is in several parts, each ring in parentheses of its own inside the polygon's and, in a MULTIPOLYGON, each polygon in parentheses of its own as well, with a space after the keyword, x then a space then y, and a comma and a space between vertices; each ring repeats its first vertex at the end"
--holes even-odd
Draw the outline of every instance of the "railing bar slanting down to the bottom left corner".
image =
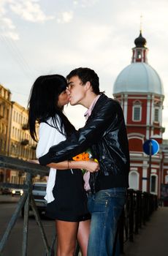
POLYGON ((18 216, 20 214, 20 210, 23 207, 25 201, 26 201, 26 197, 28 196, 28 192, 25 192, 23 194, 22 197, 20 197, 20 200, 18 202, 17 207, 15 208, 15 212, 14 214, 12 214, 12 217, 9 221, 9 224, 7 225, 7 229, 4 232, 4 236, 1 238, 1 242, 0 242, 0 252, 2 252, 4 250, 4 246, 7 243, 7 239, 9 238, 9 235, 11 233, 12 228, 15 225, 16 220, 18 219, 18 216))

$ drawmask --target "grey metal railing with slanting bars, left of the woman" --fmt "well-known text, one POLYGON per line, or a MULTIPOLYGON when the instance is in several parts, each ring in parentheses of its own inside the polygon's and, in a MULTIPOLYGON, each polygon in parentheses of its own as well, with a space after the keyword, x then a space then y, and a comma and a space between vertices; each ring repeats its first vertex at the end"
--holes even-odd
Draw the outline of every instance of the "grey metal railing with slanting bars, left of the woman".
POLYGON ((47 237, 45 235, 45 230, 42 226, 41 219, 39 217, 39 212, 37 210, 37 206, 34 202, 34 197, 32 195, 32 178, 34 176, 47 176, 48 168, 42 167, 38 164, 26 162, 20 159, 15 159, 12 157, 4 157, 0 156, 0 167, 3 169, 11 169, 26 173, 26 182, 23 185, 20 184, 8 184, 8 183, 0 183, 0 187, 5 188, 17 188, 23 189, 24 193, 20 200, 18 201, 18 205, 15 208, 15 212, 12 214, 12 217, 7 225, 7 229, 4 232, 4 235, 0 241, 0 254, 4 250, 4 246, 7 244, 7 240, 12 231, 12 228, 15 226, 15 222, 17 221, 20 211, 24 207, 24 221, 23 221, 23 244, 22 244, 22 256, 27 255, 27 245, 28 245, 28 213, 29 213, 29 205, 34 212, 34 217, 36 219, 37 225, 39 226, 39 230, 42 235, 42 241, 45 246, 45 253, 47 256, 53 256, 53 246, 56 241, 56 234, 53 236, 51 245, 49 246, 47 237))

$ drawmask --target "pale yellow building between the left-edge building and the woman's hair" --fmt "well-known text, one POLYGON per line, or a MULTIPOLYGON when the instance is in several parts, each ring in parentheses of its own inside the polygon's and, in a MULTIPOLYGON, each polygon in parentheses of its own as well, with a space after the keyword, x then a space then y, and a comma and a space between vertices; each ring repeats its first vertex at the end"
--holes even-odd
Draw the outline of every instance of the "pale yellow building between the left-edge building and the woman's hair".
MULTIPOLYGON (((9 131, 8 155, 23 160, 36 159, 36 145, 28 132, 28 110, 17 102, 12 102, 9 131)), ((11 170, 10 183, 23 184, 25 173, 11 170)))

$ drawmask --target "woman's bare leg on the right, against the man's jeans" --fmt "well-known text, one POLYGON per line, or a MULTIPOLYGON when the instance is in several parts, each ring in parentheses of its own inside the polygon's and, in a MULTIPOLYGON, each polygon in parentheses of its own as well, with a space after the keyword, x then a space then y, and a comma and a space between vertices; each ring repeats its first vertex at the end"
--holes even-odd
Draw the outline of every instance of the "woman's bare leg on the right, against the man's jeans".
POLYGON ((83 256, 87 256, 88 236, 90 233, 91 219, 79 222, 77 241, 80 244, 80 249, 83 256))

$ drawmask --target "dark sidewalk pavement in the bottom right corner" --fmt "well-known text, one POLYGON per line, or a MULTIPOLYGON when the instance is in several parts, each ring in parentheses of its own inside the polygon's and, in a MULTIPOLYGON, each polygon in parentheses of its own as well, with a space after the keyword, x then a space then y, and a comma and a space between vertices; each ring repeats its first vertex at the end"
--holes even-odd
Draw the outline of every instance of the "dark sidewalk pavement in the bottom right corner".
POLYGON ((168 255, 168 207, 161 207, 153 213, 140 233, 134 236, 134 242, 125 244, 124 255, 168 255))

